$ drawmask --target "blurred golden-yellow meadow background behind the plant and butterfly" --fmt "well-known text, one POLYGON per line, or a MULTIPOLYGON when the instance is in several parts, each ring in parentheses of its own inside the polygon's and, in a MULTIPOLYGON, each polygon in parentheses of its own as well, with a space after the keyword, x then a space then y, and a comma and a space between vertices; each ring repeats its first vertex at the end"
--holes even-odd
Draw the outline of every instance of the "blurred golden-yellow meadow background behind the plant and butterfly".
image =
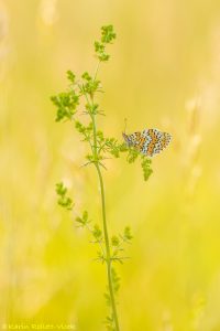
POLYGON ((220 2, 0 2, 0 322, 105 330, 106 271, 89 236, 56 203, 63 180, 100 222, 87 148, 55 122, 50 97, 66 71, 96 66, 94 41, 113 24, 101 66, 107 136, 160 128, 173 141, 143 181, 140 164, 107 160, 111 233, 132 227, 119 266, 122 330, 220 330, 220 2))

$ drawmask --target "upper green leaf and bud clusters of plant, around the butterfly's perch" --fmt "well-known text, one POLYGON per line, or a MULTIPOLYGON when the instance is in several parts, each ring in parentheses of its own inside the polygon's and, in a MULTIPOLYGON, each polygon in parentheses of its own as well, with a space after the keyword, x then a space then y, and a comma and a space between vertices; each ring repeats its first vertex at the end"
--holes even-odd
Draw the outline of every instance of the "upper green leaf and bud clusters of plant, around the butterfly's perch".
MULTIPOLYGON (((116 33, 112 25, 101 28, 101 39, 95 42, 95 53, 98 57, 97 71, 101 62, 109 60, 110 55, 106 52, 107 44, 111 43, 116 39, 116 33)), ((76 79, 76 75, 72 72, 67 72, 67 78, 69 81, 68 90, 57 94, 52 97, 52 102, 56 106, 56 121, 73 120, 75 122, 76 130, 82 136, 82 140, 87 141, 91 147, 91 153, 86 156, 87 164, 96 162, 97 159, 100 166, 105 168, 102 160, 107 158, 107 154, 111 154, 114 158, 119 158, 121 153, 127 153, 127 160, 129 163, 134 162, 138 158, 141 158, 141 167, 143 169, 144 180, 147 180, 151 173, 151 160, 134 148, 129 148, 125 142, 119 142, 116 138, 105 137, 103 132, 99 129, 97 131, 97 154, 96 159, 92 153, 94 141, 94 122, 92 118, 97 115, 105 115, 99 108, 99 104, 95 103, 94 97, 96 93, 102 92, 101 82, 97 79, 97 71, 95 75, 90 75, 88 72, 84 72, 80 79, 76 79), (84 125, 78 118, 76 118, 81 98, 84 98, 86 114, 90 117, 88 125, 84 125)))

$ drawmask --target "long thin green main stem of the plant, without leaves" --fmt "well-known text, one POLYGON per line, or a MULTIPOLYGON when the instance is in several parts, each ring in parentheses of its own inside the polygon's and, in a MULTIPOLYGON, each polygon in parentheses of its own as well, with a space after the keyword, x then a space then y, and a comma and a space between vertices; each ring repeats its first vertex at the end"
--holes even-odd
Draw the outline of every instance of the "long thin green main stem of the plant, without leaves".
POLYGON ((105 244, 106 244, 106 264, 107 264, 109 293, 110 293, 110 299, 111 299, 111 307, 112 307, 112 314, 113 314, 113 320, 114 320, 114 324, 116 324, 116 331, 120 331, 116 298, 114 298, 114 293, 113 293, 112 273, 111 273, 111 252, 110 252, 107 216, 106 216, 105 186, 103 186, 103 179, 102 179, 102 174, 101 174, 101 170, 100 170, 99 161, 98 161, 97 128, 96 128, 95 115, 91 115, 91 120, 92 120, 92 128, 94 128, 94 150, 92 151, 94 151, 94 157, 95 157, 95 167, 98 172, 98 178, 99 178, 99 183, 100 183, 100 189, 101 189, 101 209, 102 209, 103 234, 105 234, 105 244))

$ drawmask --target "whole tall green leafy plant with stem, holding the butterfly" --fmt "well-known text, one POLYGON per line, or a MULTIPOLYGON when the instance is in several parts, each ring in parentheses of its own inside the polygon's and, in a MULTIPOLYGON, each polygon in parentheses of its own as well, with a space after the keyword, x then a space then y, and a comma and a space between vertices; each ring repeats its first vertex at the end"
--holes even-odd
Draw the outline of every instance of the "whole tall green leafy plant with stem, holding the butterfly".
MULTIPOLYGON (((102 177, 102 169, 106 169, 105 160, 107 156, 119 158, 121 153, 127 153, 127 161, 134 162, 139 157, 141 158, 141 166, 144 173, 144 180, 147 180, 152 173, 151 160, 144 156, 140 156, 134 148, 128 147, 124 142, 120 143, 116 138, 106 137, 102 130, 97 126, 97 118, 103 115, 99 104, 96 100, 97 94, 102 90, 101 82, 97 78, 100 64, 108 62, 110 55, 107 53, 107 45, 111 44, 116 39, 116 33, 112 25, 101 28, 101 38, 95 42, 95 53, 98 60, 95 74, 84 72, 81 77, 76 78, 72 71, 67 72, 69 87, 66 92, 59 93, 52 97, 52 102, 56 106, 56 121, 74 121, 76 130, 82 137, 89 147, 89 153, 86 156, 87 162, 85 166, 92 164, 97 171, 100 184, 100 199, 102 210, 102 224, 94 224, 89 220, 87 211, 84 211, 81 216, 76 217, 76 223, 79 227, 87 228, 92 236, 92 243, 99 246, 97 260, 106 265, 108 275, 108 286, 105 293, 107 305, 110 307, 110 313, 106 318, 106 325, 108 330, 119 331, 119 319, 117 312, 116 296, 120 288, 120 278, 117 275, 113 265, 116 263, 123 264, 128 258, 124 256, 124 245, 130 244, 133 236, 129 226, 127 226, 122 234, 112 235, 110 238, 107 211, 106 211, 106 192, 102 177), (88 116, 88 124, 84 125, 78 118, 78 106, 85 100, 85 111, 88 116)), ((58 204, 68 211, 73 210, 74 203, 67 196, 67 189, 61 182, 56 185, 58 194, 58 204)))

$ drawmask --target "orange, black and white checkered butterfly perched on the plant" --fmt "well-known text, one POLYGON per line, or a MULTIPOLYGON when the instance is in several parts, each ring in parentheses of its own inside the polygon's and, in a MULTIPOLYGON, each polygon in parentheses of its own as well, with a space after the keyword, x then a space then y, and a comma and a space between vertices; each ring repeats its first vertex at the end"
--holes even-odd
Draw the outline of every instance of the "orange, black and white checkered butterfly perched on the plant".
POLYGON ((142 154, 153 157, 164 150, 172 140, 172 136, 157 129, 145 129, 132 135, 122 134, 129 147, 134 147, 142 154))

